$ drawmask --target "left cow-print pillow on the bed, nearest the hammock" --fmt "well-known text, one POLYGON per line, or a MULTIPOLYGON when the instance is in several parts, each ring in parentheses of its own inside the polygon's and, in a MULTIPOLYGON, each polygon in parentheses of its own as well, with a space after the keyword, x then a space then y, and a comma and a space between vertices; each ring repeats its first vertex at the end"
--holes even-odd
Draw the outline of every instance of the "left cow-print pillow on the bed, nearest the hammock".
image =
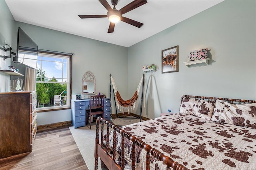
POLYGON ((215 101, 205 101, 193 98, 184 98, 180 105, 180 112, 211 120, 215 101))

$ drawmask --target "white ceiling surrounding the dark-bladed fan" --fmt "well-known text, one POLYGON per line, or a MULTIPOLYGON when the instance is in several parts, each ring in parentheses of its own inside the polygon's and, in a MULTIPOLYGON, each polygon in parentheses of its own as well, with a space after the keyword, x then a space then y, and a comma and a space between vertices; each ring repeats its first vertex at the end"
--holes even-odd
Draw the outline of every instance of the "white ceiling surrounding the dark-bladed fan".
MULTIPOLYGON (((147 0, 148 3, 123 16, 144 23, 137 28, 119 22, 114 33, 107 33, 108 18, 80 19, 78 15, 105 15, 98 0, 5 0, 14 19, 94 40, 130 47, 223 0, 147 0)), ((110 6, 110 0, 107 0, 110 6)), ((119 0, 116 9, 132 0, 119 0)), ((203 21, 202 21, 203 22, 203 21)))

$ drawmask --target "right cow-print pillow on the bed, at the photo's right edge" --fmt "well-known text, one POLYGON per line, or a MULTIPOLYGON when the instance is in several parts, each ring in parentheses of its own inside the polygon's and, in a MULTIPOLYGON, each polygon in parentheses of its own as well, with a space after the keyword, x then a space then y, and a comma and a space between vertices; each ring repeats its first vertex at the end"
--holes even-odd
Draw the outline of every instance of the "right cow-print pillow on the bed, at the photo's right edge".
POLYGON ((235 105, 216 100, 211 120, 256 129, 256 103, 235 105))

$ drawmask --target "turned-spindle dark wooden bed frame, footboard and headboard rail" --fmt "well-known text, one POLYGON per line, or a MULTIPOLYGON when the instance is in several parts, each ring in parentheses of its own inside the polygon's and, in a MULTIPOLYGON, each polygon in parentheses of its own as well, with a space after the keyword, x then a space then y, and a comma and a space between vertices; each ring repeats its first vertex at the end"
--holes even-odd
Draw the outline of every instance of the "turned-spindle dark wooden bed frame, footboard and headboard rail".
MULTIPOLYGON (((238 103, 256 103, 256 101, 253 100, 241 100, 241 99, 227 99, 227 98, 219 98, 219 97, 202 97, 202 96, 190 96, 190 95, 184 95, 181 97, 181 102, 183 101, 184 97, 190 97, 190 98, 197 98, 197 99, 210 99, 210 100, 224 100, 224 101, 230 101, 230 103, 233 104, 233 102, 238 103)), ((187 170, 187 168, 179 164, 178 162, 175 162, 170 158, 169 156, 164 155, 159 150, 156 150, 155 148, 152 148, 150 145, 146 144, 142 140, 136 138, 129 132, 126 132, 122 128, 114 125, 110 121, 107 121, 106 119, 102 117, 98 117, 96 120, 96 138, 95 138, 95 170, 98 170, 98 157, 100 156, 101 160, 101 167, 102 168, 108 168, 111 170, 123 170, 124 169, 124 138, 127 138, 132 142, 132 170, 135 170, 136 162, 135 162, 135 146, 139 146, 140 148, 146 150, 146 170, 150 169, 150 154, 157 158, 158 160, 162 161, 163 164, 166 164, 166 166, 170 169, 173 168, 173 170, 187 170), (99 127, 101 122, 101 141, 99 138, 99 127), (103 136, 104 136, 104 124, 107 125, 107 134, 106 134, 106 146, 103 145, 103 136), (109 150, 109 127, 114 129, 113 133, 113 148, 112 148, 112 154, 110 154, 109 150), (116 132, 122 135, 122 144, 121 144, 121 166, 119 166, 116 163, 116 132)))

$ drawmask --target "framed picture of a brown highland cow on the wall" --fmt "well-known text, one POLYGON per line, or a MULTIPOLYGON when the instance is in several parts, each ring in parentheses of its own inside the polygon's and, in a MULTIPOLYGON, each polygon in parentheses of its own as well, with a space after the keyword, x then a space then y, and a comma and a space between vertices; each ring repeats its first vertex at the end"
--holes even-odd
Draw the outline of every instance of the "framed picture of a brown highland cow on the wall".
POLYGON ((162 73, 179 71, 179 46, 162 50, 162 73))

